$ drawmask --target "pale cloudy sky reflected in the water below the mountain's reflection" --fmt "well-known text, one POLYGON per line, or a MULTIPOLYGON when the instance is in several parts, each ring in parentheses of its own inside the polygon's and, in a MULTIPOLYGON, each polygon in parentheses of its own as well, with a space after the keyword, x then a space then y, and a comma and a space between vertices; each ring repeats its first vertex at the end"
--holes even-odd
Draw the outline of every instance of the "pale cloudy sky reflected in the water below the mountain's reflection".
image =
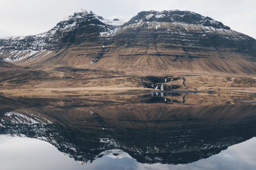
POLYGON ((139 163, 121 150, 110 150, 82 164, 49 144, 28 137, 0 136, 1 169, 255 169, 256 138, 236 144, 217 155, 188 164, 139 163), (119 153, 119 155, 113 155, 119 153))

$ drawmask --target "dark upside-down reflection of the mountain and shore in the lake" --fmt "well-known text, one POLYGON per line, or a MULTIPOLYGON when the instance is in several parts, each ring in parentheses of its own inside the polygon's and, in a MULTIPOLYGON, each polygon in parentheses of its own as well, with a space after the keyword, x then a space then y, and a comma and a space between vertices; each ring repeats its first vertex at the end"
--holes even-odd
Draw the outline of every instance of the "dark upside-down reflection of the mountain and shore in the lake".
POLYGON ((0 133, 47 141, 76 161, 122 150, 140 163, 186 164, 256 136, 255 98, 208 93, 1 97, 0 133))

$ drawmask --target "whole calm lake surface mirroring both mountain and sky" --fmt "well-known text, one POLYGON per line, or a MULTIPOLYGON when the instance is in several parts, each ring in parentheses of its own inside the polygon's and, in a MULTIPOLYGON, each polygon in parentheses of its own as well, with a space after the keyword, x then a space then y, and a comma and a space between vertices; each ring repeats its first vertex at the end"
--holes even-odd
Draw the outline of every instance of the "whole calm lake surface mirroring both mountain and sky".
POLYGON ((254 95, 0 101, 0 169, 256 169, 254 95))

